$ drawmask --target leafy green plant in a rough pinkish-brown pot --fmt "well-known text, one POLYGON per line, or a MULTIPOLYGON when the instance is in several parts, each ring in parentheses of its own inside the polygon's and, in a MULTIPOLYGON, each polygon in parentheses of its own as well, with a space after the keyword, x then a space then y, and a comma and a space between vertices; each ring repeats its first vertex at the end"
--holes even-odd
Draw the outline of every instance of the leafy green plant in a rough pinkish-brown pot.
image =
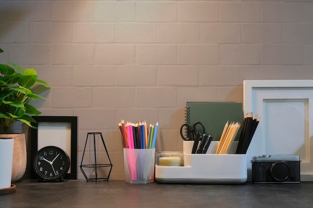
MULTIPOLYGON (((0 52, 3 50, 0 48, 0 52)), ((38 79, 37 72, 33 68, 23 69, 19 65, 9 62, 10 65, 0 64, 0 137, 1 138, 13 138, 14 135, 7 135, 8 128, 20 121, 31 128, 31 122, 35 122, 31 117, 32 115, 41 114, 34 106, 28 103, 29 100, 35 100, 38 98, 45 99, 37 94, 34 94, 32 89, 35 83, 39 83, 47 88, 49 84, 45 81, 38 79)), ((25 135, 17 134, 18 140, 14 139, 14 153, 13 153, 13 170, 12 181, 19 180, 26 169, 26 145, 25 135), (21 138, 20 138, 21 137, 21 138), (23 140, 23 141, 22 141, 23 140), (21 144, 17 144, 17 142, 21 144), (19 149, 19 150, 16 150, 19 149), (24 153, 21 153, 24 151, 24 153), (17 157, 17 158, 15 158, 17 157), (18 160, 18 161, 16 161, 18 160), (21 162, 20 160, 24 160, 21 162), (14 164, 16 163, 16 164, 14 164), (23 164, 24 166, 20 173, 14 173, 14 168, 17 168, 17 164, 23 164), (16 176, 14 176, 16 175, 16 176)), ((1 174, 0 174, 1 175, 1 174)))

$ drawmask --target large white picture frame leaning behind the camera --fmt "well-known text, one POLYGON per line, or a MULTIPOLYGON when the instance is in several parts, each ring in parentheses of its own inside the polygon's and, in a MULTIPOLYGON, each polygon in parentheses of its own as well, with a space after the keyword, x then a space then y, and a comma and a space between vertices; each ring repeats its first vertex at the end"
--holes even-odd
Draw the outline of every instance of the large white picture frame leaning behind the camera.
POLYGON ((247 150, 253 156, 299 155, 301 181, 313 181, 313 80, 244 80, 243 111, 260 116, 247 150))

